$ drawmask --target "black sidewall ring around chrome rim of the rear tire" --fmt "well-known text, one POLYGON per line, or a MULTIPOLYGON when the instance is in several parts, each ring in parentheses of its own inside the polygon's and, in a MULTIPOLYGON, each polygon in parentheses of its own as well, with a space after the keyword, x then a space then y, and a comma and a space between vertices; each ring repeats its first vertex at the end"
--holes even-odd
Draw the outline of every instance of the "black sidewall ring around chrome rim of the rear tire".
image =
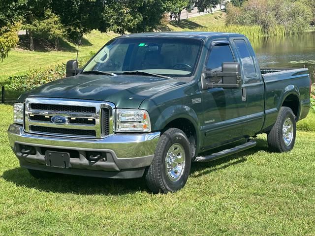
POLYGON ((282 114, 281 116, 281 122, 280 122, 280 127, 279 127, 279 130, 278 130, 278 135, 279 135, 279 138, 280 138, 280 145, 281 145, 281 148, 283 151, 289 151, 291 150, 293 147, 294 147, 294 144, 295 144, 295 138, 296 138, 296 121, 295 121, 295 116, 292 112, 292 110, 288 107, 285 108, 285 111, 284 113, 282 114), (292 120, 292 124, 293 124, 293 140, 291 142, 290 145, 286 146, 284 144, 284 137, 283 137, 283 126, 284 126, 284 121, 286 118, 290 118, 292 120))

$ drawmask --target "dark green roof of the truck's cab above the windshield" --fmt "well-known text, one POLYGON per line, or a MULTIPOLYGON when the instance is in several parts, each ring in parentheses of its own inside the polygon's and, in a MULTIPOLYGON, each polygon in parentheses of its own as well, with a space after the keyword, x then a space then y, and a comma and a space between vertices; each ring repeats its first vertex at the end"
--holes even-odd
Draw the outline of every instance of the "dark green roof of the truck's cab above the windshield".
POLYGON ((206 39, 212 36, 228 36, 228 37, 244 37, 243 34, 238 33, 221 33, 221 32, 196 32, 196 31, 171 31, 171 32, 149 32, 149 33, 131 33, 119 36, 118 38, 129 37, 189 37, 206 39))

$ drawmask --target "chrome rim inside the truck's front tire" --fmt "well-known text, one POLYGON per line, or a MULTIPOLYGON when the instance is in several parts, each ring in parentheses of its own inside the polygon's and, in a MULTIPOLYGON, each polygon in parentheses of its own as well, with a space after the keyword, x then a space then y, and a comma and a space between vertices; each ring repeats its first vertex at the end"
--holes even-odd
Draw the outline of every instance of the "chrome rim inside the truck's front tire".
POLYGON ((171 181, 177 181, 182 177, 185 169, 185 151, 182 145, 173 144, 165 157, 166 176, 171 181))

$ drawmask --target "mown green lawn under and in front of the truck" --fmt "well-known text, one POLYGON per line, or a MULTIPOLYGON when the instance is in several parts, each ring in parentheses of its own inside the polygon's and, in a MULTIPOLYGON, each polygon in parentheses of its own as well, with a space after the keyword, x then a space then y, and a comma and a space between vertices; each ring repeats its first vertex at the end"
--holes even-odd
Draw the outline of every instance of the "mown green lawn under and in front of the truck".
POLYGON ((0 105, 0 235, 315 235, 315 132, 288 153, 257 147, 193 163, 177 193, 148 193, 142 179, 60 176, 37 180, 19 167, 0 105))

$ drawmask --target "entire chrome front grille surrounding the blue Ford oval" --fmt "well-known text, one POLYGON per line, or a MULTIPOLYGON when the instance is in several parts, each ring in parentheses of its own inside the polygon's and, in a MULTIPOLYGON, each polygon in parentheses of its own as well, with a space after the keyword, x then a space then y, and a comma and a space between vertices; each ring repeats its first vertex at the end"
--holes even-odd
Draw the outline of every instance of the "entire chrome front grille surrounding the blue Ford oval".
POLYGON ((27 98, 24 127, 29 133, 102 138, 113 133, 111 126, 114 108, 113 103, 101 101, 27 98), (56 124, 51 121, 54 116, 63 116, 66 122, 56 124))

